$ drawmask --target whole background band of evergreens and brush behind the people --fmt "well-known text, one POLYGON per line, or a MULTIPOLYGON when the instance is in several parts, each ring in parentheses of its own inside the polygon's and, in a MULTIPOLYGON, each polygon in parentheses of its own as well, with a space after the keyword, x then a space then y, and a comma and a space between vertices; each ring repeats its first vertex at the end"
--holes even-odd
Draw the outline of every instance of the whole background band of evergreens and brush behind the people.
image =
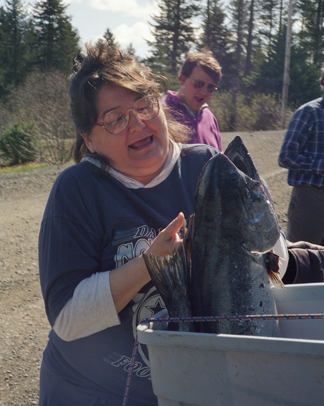
MULTIPOLYGON (((126 51, 177 90, 186 54, 209 49, 222 66, 210 109, 221 132, 285 128, 297 106, 320 97, 324 1, 161 0, 150 16, 149 56, 126 51), (197 21, 199 21, 197 23, 197 21), (291 28, 288 100, 282 108, 286 36, 291 28)), ((68 97, 73 57, 81 51, 63 0, 4 0, 0 6, 0 167, 71 159, 68 97)), ((118 39, 118 38, 117 38, 118 39)), ((120 47, 109 27, 100 41, 120 47)))

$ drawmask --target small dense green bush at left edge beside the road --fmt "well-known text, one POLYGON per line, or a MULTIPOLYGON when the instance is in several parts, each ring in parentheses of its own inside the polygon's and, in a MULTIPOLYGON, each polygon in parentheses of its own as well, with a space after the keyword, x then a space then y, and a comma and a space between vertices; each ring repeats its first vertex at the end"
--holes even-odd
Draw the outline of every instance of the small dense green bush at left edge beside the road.
POLYGON ((33 123, 14 122, 0 135, 0 151, 10 165, 32 162, 36 159, 34 140, 36 132, 33 123))

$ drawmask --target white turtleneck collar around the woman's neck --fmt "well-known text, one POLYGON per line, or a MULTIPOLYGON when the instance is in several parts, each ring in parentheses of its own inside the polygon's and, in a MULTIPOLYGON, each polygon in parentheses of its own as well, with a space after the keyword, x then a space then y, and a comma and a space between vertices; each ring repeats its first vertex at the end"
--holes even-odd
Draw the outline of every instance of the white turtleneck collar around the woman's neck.
MULTIPOLYGON (((159 183, 163 182, 164 179, 168 177, 168 175, 171 173, 175 162, 178 160, 180 156, 180 148, 178 144, 173 142, 171 139, 169 140, 169 150, 166 158, 166 162, 163 166, 162 171, 157 175, 155 178, 151 180, 147 185, 145 185, 142 182, 139 182, 138 180, 132 179, 121 172, 116 171, 109 165, 106 165, 105 170, 114 178, 118 179, 120 182, 123 183, 124 186, 130 188, 130 189, 139 189, 140 187, 143 188, 151 188, 154 186, 157 186, 159 183)), ((99 159, 94 158, 92 156, 85 156, 84 158, 81 159, 81 162, 88 161, 91 162, 92 164, 98 166, 99 168, 102 168, 102 163, 99 159)))

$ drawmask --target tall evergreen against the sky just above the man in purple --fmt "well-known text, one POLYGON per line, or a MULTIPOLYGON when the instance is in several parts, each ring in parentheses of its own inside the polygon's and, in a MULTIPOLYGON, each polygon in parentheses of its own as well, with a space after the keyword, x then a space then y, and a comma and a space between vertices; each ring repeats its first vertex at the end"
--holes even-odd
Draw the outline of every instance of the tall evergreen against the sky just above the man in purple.
POLYGON ((155 41, 147 41, 152 57, 146 60, 153 68, 175 74, 178 65, 195 42, 192 17, 198 11, 194 0, 161 0, 160 13, 150 23, 155 41))

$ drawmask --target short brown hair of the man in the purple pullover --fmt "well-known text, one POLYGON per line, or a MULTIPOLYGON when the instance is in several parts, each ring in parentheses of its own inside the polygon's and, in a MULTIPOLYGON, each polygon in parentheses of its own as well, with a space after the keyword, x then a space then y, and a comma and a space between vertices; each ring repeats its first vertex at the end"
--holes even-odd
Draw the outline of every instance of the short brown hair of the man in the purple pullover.
POLYGON ((208 49, 202 49, 200 52, 189 53, 187 55, 180 68, 179 79, 181 75, 189 77, 195 66, 200 66, 202 70, 214 79, 215 84, 217 84, 222 77, 222 68, 217 59, 213 57, 212 52, 208 49))

